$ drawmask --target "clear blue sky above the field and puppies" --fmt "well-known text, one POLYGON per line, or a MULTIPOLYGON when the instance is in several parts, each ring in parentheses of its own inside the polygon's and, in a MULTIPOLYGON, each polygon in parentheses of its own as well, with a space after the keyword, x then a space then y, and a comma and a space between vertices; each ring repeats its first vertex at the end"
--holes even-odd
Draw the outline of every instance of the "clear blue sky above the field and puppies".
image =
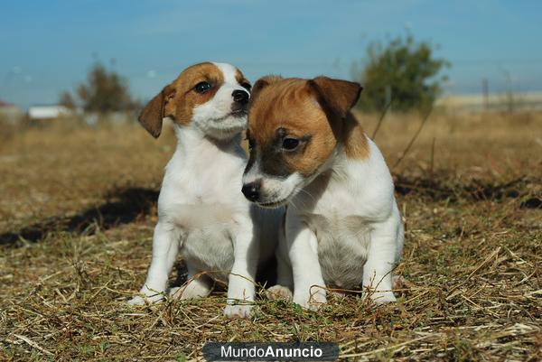
POLYGON ((0 99, 54 103, 101 60, 147 99, 186 66, 227 61, 267 73, 350 78, 374 40, 404 34, 440 46, 448 93, 542 90, 538 0, 26 0, 0 11, 0 99), (114 59, 114 64, 111 60, 114 59))

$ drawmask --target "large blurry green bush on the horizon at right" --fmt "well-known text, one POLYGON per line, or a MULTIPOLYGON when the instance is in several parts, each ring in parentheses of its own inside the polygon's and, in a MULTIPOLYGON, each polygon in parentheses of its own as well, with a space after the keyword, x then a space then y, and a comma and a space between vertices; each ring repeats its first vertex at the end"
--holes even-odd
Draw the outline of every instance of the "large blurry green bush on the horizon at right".
POLYGON ((449 66, 447 60, 435 59, 430 43, 415 42, 410 33, 385 44, 371 42, 364 69, 353 69, 353 77, 364 88, 359 107, 381 111, 392 102, 398 111, 428 109, 447 79, 439 73, 449 66))

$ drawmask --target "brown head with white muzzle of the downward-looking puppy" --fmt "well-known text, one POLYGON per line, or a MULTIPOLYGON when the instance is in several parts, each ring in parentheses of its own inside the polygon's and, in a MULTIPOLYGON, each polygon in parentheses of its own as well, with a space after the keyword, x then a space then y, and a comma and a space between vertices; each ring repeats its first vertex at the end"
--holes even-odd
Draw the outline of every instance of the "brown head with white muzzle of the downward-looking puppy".
POLYGON ((284 205, 325 170, 360 91, 358 83, 326 77, 258 79, 248 115, 247 199, 267 208, 284 205))

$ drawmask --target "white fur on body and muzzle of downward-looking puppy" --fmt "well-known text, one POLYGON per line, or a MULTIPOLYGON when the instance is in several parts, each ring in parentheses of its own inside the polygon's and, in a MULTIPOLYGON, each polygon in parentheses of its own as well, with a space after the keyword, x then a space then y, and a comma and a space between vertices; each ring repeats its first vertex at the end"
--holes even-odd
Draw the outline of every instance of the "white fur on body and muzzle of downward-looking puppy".
POLYGON ((262 181, 258 203, 289 202, 272 292, 293 289, 294 302, 310 309, 326 302, 325 285, 361 284, 375 302, 396 300, 391 271, 402 253, 403 223, 388 166, 367 141, 368 159, 349 159, 339 144, 310 178, 293 173, 281 180, 248 170, 244 182, 262 181))

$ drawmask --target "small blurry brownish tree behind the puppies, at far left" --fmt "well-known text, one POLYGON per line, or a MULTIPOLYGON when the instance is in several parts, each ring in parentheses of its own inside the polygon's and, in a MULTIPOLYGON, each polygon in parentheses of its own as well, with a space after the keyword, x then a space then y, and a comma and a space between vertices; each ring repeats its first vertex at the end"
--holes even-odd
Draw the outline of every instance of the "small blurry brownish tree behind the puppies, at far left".
POLYGON ((107 70, 101 63, 94 64, 89 70, 87 81, 79 84, 75 93, 77 101, 69 92, 62 92, 60 103, 64 106, 78 104, 86 112, 99 114, 126 111, 136 107, 126 79, 114 70, 107 70))

